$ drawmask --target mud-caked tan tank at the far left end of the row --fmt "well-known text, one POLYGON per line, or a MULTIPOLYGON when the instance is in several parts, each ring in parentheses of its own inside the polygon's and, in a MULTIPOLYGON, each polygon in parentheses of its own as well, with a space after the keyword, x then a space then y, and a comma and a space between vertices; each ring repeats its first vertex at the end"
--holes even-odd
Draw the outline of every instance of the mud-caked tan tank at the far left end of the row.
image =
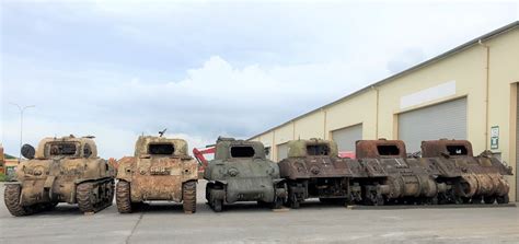
POLYGON ((9 212, 27 216, 58 202, 77 204, 82 212, 111 206, 115 172, 97 156, 92 138, 45 138, 37 150, 25 144, 22 154, 28 160, 18 165, 16 182, 5 184, 9 212))

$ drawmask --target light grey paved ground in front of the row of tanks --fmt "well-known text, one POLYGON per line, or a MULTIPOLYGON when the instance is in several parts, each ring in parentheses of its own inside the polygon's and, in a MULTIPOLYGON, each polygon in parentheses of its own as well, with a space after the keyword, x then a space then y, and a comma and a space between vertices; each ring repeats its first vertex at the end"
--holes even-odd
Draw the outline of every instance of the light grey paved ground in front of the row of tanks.
POLYGON ((119 214, 92 216, 60 204, 53 212, 15 218, 0 187, 0 243, 519 243, 519 208, 362 209, 323 206, 272 211, 239 204, 215 213, 198 186, 198 211, 152 202, 119 214))

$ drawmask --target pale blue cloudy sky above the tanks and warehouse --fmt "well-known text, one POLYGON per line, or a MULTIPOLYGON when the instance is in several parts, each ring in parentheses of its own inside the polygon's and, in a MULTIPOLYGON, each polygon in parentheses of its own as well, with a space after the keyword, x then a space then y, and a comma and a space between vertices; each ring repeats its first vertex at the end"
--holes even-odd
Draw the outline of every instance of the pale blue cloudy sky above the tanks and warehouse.
MULTIPOLYGON (((1 142, 247 138, 519 19, 516 2, 10 1, 1 142)), ((419 82, 419 81, 417 81, 419 82)))

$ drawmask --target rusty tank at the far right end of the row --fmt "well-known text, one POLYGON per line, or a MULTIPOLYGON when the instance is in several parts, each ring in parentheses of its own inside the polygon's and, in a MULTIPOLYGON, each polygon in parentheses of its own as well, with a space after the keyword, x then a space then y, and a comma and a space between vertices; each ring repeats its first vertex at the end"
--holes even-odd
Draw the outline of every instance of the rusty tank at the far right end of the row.
POLYGON ((437 181, 448 186, 442 202, 508 204, 505 175, 512 171, 491 151, 474 156, 471 142, 441 139, 423 141, 422 158, 437 181))

